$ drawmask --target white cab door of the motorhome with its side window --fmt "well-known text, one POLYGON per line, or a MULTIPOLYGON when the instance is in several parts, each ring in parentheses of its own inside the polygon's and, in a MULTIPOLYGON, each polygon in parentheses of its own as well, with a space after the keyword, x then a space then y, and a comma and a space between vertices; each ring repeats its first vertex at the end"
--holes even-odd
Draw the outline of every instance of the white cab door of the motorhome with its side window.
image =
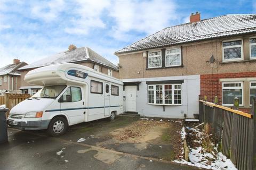
POLYGON ((85 106, 83 89, 80 87, 69 87, 60 97, 60 110, 68 116, 70 124, 84 122, 85 106))

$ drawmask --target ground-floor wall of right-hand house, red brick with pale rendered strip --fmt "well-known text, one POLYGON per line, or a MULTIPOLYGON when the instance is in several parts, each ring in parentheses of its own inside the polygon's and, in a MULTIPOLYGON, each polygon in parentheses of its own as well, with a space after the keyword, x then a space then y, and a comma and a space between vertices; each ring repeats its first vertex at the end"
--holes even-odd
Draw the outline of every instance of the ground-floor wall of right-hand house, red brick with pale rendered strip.
POLYGON ((222 73, 222 74, 201 74, 200 94, 207 100, 214 101, 218 97, 218 104, 222 105, 222 82, 243 82, 243 106, 239 110, 250 113, 250 82, 256 81, 256 72, 222 73))

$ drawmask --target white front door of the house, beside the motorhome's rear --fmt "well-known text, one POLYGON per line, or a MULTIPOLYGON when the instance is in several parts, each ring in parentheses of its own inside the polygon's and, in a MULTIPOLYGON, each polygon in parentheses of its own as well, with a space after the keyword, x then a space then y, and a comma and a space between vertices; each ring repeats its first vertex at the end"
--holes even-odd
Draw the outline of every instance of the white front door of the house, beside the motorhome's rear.
POLYGON ((125 86, 126 112, 136 112, 136 90, 137 86, 125 86))

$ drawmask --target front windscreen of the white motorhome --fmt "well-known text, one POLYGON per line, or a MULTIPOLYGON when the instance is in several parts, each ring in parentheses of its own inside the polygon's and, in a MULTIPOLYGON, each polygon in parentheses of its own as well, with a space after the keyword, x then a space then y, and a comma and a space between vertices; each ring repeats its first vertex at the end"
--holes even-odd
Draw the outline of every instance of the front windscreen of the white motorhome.
POLYGON ((55 85, 46 86, 42 89, 40 97, 41 98, 57 98, 60 93, 66 88, 66 85, 55 85))

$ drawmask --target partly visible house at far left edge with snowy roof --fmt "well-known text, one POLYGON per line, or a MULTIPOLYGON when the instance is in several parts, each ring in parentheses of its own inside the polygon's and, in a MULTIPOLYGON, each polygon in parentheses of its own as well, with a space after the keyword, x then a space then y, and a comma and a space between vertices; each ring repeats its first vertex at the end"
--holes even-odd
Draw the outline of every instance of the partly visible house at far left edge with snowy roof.
POLYGON ((20 71, 18 69, 25 65, 27 63, 14 59, 13 64, 0 68, 0 95, 4 92, 19 92, 20 71))

